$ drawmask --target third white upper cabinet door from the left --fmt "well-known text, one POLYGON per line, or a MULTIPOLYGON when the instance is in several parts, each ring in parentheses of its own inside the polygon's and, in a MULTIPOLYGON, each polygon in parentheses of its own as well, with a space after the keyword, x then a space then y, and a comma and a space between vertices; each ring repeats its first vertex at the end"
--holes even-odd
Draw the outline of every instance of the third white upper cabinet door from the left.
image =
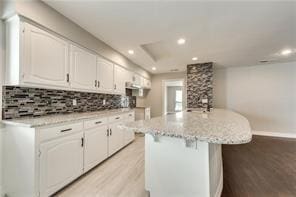
POLYGON ((113 92, 113 64, 102 58, 97 60, 98 88, 103 92, 113 92))

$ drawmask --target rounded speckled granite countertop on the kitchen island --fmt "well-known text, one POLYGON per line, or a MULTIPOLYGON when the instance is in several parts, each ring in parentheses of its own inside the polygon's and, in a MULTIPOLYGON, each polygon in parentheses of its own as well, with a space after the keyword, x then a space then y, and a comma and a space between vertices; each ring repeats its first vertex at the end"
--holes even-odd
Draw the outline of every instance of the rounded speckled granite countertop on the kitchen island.
POLYGON ((141 133, 216 144, 243 144, 252 139, 249 121, 225 109, 211 112, 178 112, 123 125, 141 133))

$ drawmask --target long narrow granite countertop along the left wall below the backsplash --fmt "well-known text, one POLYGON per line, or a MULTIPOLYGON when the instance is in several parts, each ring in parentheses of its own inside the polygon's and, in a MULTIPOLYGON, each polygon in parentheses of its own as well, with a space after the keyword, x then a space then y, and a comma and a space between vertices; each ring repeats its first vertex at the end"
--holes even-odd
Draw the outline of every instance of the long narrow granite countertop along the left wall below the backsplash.
POLYGON ((133 111, 129 108, 95 111, 95 112, 76 112, 71 114, 60 114, 60 115, 48 115, 41 117, 31 117, 31 118, 18 118, 10 120, 2 120, 3 124, 13 125, 13 126, 23 126, 23 127, 41 127, 51 124, 59 124, 65 122, 72 122, 78 120, 86 120, 92 118, 113 116, 121 113, 127 113, 133 111))

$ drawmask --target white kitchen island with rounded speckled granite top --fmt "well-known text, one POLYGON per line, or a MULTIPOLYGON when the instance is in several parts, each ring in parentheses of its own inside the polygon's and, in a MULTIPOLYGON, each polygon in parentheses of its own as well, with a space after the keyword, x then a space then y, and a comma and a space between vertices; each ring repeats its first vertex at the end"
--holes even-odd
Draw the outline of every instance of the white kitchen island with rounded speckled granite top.
POLYGON ((123 127, 145 133, 145 188, 151 197, 218 197, 221 144, 252 139, 249 122, 233 111, 179 112, 123 127))

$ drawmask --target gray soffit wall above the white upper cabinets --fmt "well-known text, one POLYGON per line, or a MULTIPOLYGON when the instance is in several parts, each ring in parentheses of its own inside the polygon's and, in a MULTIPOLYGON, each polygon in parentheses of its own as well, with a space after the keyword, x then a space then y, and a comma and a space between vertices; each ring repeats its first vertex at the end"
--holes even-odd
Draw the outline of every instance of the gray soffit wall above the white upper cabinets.
POLYGON ((147 71, 39 0, 6 1, 4 6, 3 18, 7 18, 15 13, 22 15, 73 42, 97 52, 114 63, 150 78, 150 74, 147 71))

